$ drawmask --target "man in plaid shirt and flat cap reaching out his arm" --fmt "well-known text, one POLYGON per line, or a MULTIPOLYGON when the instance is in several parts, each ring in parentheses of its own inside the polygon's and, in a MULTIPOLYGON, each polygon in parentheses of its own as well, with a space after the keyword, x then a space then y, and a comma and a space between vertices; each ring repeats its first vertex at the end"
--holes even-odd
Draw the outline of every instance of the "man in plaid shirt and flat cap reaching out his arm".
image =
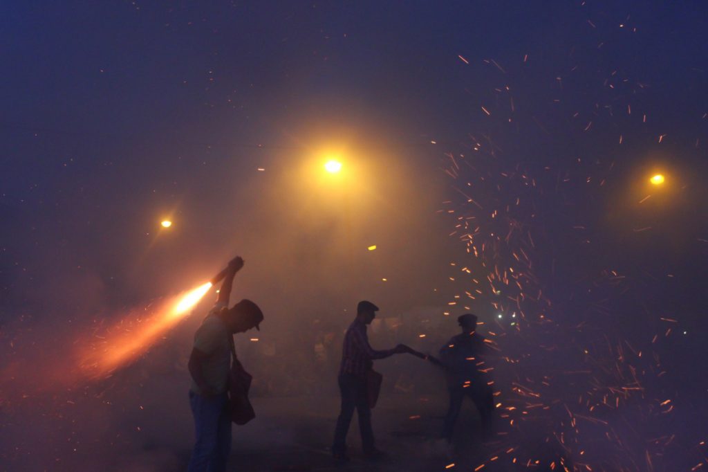
POLYGON ((334 430, 332 454, 338 461, 348 461, 346 437, 354 410, 359 415, 362 449, 367 459, 380 459, 382 452, 376 449, 374 432, 371 427, 371 408, 367 394, 367 374, 375 359, 385 359, 393 354, 409 352, 404 344, 394 349, 377 351, 372 349, 366 335, 366 327, 376 317, 379 307, 370 301, 360 301, 357 315, 344 335, 342 362, 339 367, 339 390, 342 395, 341 412, 334 430))

